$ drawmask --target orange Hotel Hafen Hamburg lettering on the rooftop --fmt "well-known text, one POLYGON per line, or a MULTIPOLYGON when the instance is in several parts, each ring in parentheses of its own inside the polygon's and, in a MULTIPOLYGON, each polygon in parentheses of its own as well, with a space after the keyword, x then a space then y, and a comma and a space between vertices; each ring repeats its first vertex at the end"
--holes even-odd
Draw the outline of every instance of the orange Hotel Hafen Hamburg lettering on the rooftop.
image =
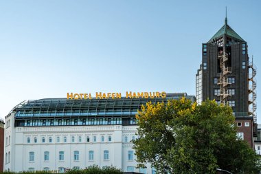
MULTIPOLYGON (((67 93, 67 100, 71 99, 92 99, 93 97, 91 94, 78 94, 78 93, 67 93)), ((122 93, 119 92, 108 92, 108 93, 102 93, 102 92, 96 92, 95 94, 96 99, 108 99, 108 98, 122 98, 122 93)), ((132 92, 132 91, 126 91, 126 98, 166 98, 166 92, 132 92)))

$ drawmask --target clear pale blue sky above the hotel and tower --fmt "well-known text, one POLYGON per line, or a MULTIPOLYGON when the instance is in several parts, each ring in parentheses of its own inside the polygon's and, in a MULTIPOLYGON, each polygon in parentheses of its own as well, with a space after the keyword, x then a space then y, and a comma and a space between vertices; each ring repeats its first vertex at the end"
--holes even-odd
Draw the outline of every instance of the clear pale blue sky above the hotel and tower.
MULTIPOLYGON (((67 92, 195 95, 201 44, 228 24, 261 67, 261 1, 1 1, 0 117, 67 92)), ((258 69, 257 81, 260 75, 258 69)), ((261 85, 258 83, 258 94, 261 85)), ((261 96, 258 95, 258 103, 261 96)), ((261 108, 258 105, 258 113, 261 108)), ((261 117, 258 117, 261 123, 261 117)))

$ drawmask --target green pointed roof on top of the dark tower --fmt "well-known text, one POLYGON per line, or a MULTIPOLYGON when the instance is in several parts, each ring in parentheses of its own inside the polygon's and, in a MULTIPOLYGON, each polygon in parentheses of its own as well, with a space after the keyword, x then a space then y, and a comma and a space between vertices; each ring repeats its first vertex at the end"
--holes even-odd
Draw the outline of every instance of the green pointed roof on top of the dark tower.
POLYGON ((229 27, 226 18, 225 25, 223 25, 223 27, 220 28, 220 30, 218 30, 218 32, 216 32, 216 34, 214 34, 214 36, 207 43, 211 43, 213 39, 223 36, 224 34, 227 34, 228 36, 231 36, 234 39, 238 39, 239 41, 245 42, 244 39, 242 39, 231 27, 229 27))

